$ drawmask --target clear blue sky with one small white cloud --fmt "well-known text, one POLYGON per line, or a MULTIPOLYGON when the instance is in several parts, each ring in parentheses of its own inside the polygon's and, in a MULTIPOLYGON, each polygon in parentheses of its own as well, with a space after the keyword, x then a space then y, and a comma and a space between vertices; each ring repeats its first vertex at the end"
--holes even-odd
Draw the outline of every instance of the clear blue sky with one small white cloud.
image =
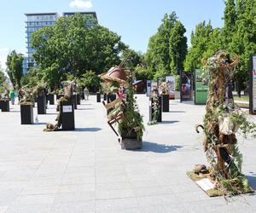
POLYGON ((147 51, 148 39, 164 14, 177 13, 189 38, 202 20, 223 26, 224 0, 2 0, 0 2, 0 61, 9 51, 26 54, 25 13, 96 11, 99 23, 117 32, 131 49, 147 51))

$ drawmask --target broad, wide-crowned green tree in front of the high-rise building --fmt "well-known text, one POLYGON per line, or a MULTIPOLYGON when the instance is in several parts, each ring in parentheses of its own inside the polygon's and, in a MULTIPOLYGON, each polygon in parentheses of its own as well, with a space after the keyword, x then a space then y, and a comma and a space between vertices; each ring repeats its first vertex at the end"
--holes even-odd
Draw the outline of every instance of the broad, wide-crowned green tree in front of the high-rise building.
POLYGON ((32 47, 43 78, 51 87, 59 87, 70 74, 79 78, 85 70, 106 72, 120 63, 119 55, 127 48, 116 33, 81 14, 61 17, 55 26, 34 32, 32 47))

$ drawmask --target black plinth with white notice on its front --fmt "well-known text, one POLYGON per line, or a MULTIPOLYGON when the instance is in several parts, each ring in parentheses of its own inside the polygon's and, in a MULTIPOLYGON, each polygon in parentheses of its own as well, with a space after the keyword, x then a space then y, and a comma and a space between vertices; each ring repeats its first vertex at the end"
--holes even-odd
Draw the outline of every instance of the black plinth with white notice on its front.
POLYGON ((61 102, 61 129, 74 130, 74 107, 71 102, 61 102))

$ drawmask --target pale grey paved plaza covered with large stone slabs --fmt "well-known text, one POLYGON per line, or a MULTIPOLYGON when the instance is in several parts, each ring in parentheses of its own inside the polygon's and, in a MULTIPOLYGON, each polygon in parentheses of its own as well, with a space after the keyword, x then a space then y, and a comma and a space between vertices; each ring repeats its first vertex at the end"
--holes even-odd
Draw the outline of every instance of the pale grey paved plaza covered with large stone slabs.
MULTIPOLYGON (((207 164, 195 132, 205 106, 170 101, 163 122, 148 126, 148 97, 137 101, 146 128, 139 151, 120 149, 93 95, 75 110, 75 131, 43 131, 55 106, 33 125, 20 125, 18 105, 0 112, 0 213, 256 212, 256 195, 209 198, 186 176, 207 164)), ((239 144, 256 189, 256 140, 239 144)))

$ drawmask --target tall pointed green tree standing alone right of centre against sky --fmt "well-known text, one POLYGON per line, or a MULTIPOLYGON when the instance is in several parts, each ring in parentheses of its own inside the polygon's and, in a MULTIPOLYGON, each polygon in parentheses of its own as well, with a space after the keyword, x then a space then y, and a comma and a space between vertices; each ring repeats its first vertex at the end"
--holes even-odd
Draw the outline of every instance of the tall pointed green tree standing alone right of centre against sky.
POLYGON ((154 73, 155 78, 176 72, 176 56, 178 68, 183 68, 183 60, 187 51, 185 32, 175 12, 170 15, 165 14, 158 31, 149 39, 148 51, 145 55, 148 69, 154 73))

